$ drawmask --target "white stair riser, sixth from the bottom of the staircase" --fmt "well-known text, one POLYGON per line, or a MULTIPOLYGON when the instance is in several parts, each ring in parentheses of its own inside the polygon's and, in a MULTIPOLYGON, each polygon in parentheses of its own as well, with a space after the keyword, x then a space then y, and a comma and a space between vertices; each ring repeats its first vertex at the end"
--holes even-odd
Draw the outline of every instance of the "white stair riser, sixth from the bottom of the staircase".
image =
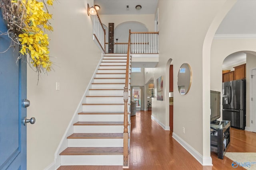
POLYGON ((123 104, 123 97, 87 97, 87 104, 123 104))

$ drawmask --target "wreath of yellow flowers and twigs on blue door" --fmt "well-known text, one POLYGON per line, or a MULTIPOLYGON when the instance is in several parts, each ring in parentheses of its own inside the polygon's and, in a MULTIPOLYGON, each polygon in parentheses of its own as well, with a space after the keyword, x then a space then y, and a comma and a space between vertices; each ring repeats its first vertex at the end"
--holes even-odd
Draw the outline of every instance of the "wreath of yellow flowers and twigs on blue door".
MULTIPOLYGON (((48 6, 52 6, 53 1, 47 0, 48 6)), ((48 13, 44 0, 0 0, 0 8, 9 37, 21 46, 20 53, 29 55, 29 62, 36 67, 36 72, 50 71, 49 40, 44 30, 53 31, 48 21, 52 15, 48 13)))

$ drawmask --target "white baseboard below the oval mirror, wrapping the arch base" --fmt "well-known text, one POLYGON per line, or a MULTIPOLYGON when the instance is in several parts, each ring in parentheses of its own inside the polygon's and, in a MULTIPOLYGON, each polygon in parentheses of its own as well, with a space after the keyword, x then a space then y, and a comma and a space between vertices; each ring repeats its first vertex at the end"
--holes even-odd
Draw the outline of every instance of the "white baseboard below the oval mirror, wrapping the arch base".
POLYGON ((188 143, 186 143, 183 139, 181 139, 178 135, 175 133, 172 133, 172 137, 182 145, 196 160, 202 164, 203 166, 212 166, 212 158, 204 157, 200 153, 198 153, 194 148, 192 148, 188 143))

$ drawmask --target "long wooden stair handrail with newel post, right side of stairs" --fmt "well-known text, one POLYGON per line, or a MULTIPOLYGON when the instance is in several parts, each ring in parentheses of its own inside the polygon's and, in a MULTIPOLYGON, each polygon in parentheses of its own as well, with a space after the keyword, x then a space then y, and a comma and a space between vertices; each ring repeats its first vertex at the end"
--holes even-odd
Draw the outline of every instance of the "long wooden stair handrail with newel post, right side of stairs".
POLYGON ((123 168, 129 167, 128 156, 128 84, 129 84, 129 68, 130 68, 130 43, 131 43, 131 30, 129 30, 129 39, 127 47, 127 62, 126 62, 126 74, 125 74, 125 86, 124 86, 124 162, 123 168))

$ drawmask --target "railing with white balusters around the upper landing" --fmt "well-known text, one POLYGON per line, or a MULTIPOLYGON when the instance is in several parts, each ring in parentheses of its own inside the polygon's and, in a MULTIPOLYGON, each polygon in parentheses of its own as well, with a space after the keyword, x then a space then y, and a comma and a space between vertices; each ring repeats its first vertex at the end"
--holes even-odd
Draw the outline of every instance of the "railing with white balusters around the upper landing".
MULTIPOLYGON (((100 48, 108 53, 108 43, 106 43, 106 30, 104 29, 100 17, 94 16, 93 35, 100 48)), ((130 32, 130 54, 158 54, 158 32, 130 32)), ((114 43, 114 53, 127 54, 128 42, 114 43)))

